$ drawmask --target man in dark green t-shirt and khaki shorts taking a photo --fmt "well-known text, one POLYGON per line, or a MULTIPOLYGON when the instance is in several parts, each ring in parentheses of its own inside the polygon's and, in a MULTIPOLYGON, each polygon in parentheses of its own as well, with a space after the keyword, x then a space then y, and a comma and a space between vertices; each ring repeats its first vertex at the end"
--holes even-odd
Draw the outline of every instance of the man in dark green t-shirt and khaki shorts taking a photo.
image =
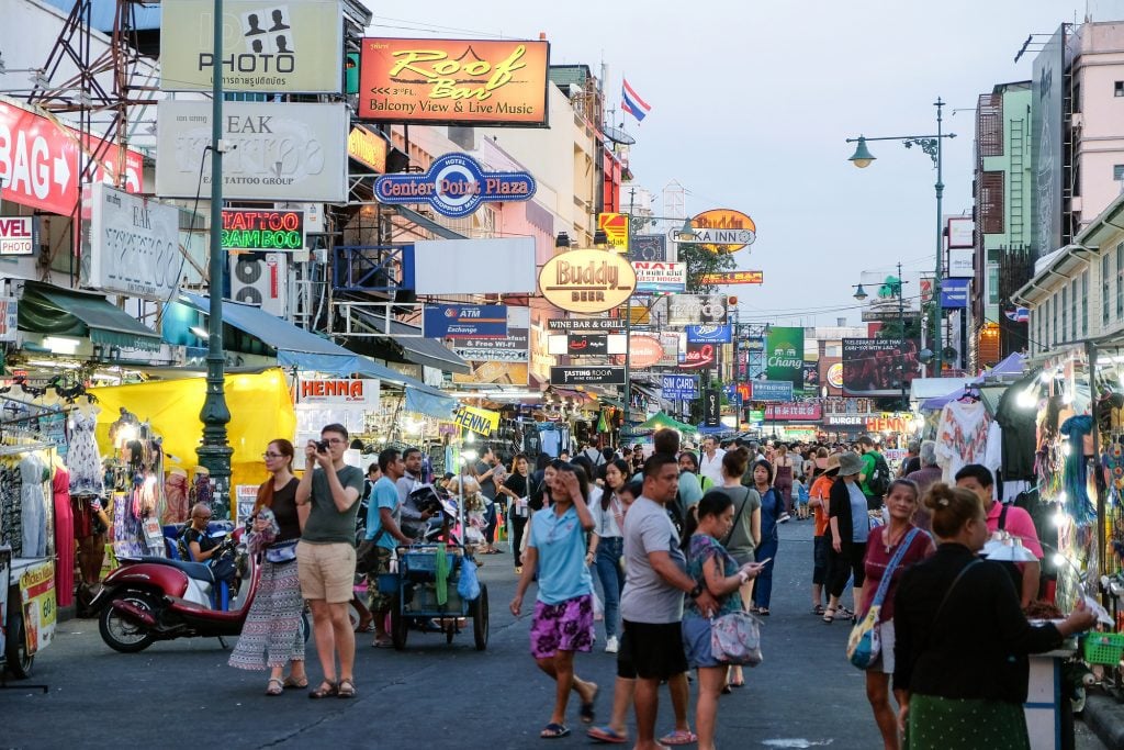
POLYGON ((347 428, 341 424, 324 427, 319 441, 305 445, 305 475, 297 486, 298 512, 308 513, 297 545, 297 576, 301 595, 312 608, 316 651, 324 670, 324 681, 309 693, 311 698, 355 696, 355 633, 347 605, 355 581, 355 516, 363 471, 344 463, 346 450, 347 428), (306 510, 307 506, 311 507, 306 510))

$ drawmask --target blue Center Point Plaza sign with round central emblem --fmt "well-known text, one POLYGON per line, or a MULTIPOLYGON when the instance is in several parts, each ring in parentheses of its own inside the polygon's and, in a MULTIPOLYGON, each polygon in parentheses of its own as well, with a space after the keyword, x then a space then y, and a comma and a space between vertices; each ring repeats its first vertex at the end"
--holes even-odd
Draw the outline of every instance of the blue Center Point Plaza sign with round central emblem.
POLYGON ((465 154, 445 154, 423 174, 384 174, 374 181, 380 204, 428 204, 450 218, 471 216, 481 204, 531 200, 529 172, 484 172, 465 154))

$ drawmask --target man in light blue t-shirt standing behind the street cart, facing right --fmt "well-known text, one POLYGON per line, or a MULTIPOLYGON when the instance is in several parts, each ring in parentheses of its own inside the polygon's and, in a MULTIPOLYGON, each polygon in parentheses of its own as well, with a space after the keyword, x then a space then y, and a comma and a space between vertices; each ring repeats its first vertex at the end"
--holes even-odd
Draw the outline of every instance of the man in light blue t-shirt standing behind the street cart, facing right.
POLYGON ((379 561, 366 575, 366 590, 371 594, 371 612, 374 613, 374 642, 377 649, 390 648, 387 633, 387 613, 393 591, 379 591, 379 575, 390 572, 390 558, 398 544, 409 544, 413 540, 402 533, 398 522, 401 517, 401 500, 395 482, 406 472, 401 454, 392 449, 379 453, 382 476, 371 490, 371 503, 366 509, 366 539, 378 544, 379 561))

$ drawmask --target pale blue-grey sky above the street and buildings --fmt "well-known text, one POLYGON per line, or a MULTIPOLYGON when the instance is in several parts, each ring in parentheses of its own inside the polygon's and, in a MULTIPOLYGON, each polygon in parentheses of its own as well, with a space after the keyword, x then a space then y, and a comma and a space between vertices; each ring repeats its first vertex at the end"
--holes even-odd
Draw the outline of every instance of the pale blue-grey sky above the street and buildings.
MULTIPOLYGON (((538 38, 552 64, 604 63, 606 108, 637 143, 637 184, 672 181, 687 213, 749 214, 756 242, 736 254, 760 287, 732 287, 742 322, 859 323, 863 272, 932 272, 936 172, 919 150, 871 143, 855 169, 845 138, 930 135, 941 97, 944 214, 972 209, 976 102, 1031 78, 1045 35, 1063 22, 1124 19, 1124 0, 428 0, 371 3, 370 35, 538 38), (1028 51, 1014 62, 1023 43, 1028 51), (620 79, 652 106, 643 124, 619 110, 620 79)), ((656 202, 662 214, 662 202, 656 202)), ((909 296, 909 288, 906 288, 909 296)))

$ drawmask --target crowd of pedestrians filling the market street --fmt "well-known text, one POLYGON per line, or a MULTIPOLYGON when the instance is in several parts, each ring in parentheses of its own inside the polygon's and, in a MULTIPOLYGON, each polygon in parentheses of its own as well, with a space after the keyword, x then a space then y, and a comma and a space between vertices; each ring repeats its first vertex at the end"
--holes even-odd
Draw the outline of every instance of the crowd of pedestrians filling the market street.
MULTIPOLYGON (((251 551, 262 553, 261 579, 230 665, 270 670, 268 695, 310 685, 305 602, 320 666, 308 696, 357 694, 355 633, 373 629, 372 645, 391 644, 395 593, 380 589, 380 576, 392 571, 399 545, 434 523, 435 510, 414 499, 426 479, 418 449, 388 448, 364 476, 344 462, 347 446, 345 427, 324 427, 303 448, 300 479, 288 441, 271 442, 263 455, 270 479, 247 526, 251 551), (365 605, 355 596, 356 528, 371 548, 365 605)), ((714 748, 719 696, 745 685, 742 667, 760 660, 752 657, 760 654, 756 617, 771 614, 778 526, 794 518, 813 523, 812 614, 828 625, 863 623, 852 645, 877 627, 880 647, 862 666, 887 750, 904 737, 913 750, 1027 747, 1027 654, 1094 623, 1080 604, 1058 624, 1027 622, 1040 563, 986 562, 978 553, 1001 532, 1041 559, 1033 522, 996 501, 987 468, 944 477, 931 442, 912 445, 896 476, 867 436, 831 446, 706 437, 696 453, 662 430, 647 451, 587 444, 565 459, 540 455, 532 467, 526 455, 502 461, 486 450, 438 481, 464 499, 469 554, 504 552, 496 531, 502 523, 509 532, 518 577, 509 608, 516 617, 529 609, 532 657, 554 683, 544 739, 570 734, 573 694, 592 740, 628 742, 633 711, 641 750, 714 748), (535 600, 525 607, 532 584, 535 600), (596 725, 602 686, 579 677, 575 654, 593 649, 598 620, 617 676, 608 721, 596 725), (749 656, 718 648, 731 634, 742 647, 735 652, 749 656), (674 724, 656 739, 661 685, 674 724)))

